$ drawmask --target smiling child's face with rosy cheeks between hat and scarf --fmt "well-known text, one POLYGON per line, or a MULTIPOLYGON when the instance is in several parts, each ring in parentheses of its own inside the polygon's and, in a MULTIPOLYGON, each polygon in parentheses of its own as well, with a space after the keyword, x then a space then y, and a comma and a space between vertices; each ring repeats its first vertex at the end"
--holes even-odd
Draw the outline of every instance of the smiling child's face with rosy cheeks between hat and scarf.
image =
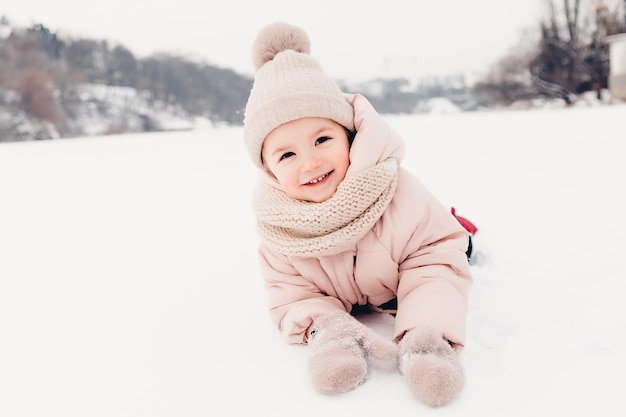
POLYGON ((265 138, 263 163, 287 195, 320 203, 330 198, 350 165, 348 134, 340 124, 306 117, 265 138))

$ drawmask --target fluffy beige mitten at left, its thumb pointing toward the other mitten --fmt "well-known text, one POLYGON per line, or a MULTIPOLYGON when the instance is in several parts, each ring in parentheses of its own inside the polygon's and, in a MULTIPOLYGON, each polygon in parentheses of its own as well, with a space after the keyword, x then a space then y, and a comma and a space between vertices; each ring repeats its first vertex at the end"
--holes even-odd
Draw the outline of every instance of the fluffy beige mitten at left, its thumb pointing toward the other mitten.
POLYGON ((309 338, 309 372, 313 386, 323 394, 350 391, 367 374, 367 355, 397 361, 397 345, 385 340, 345 311, 323 314, 315 320, 309 338))

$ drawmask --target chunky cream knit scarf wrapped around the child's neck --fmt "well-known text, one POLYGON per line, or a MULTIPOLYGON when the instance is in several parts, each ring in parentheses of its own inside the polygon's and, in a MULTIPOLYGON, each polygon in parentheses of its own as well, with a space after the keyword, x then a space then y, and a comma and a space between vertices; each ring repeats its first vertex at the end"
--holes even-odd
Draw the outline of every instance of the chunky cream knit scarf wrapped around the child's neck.
POLYGON ((259 233, 272 250, 287 256, 340 253, 380 219, 397 185, 398 164, 393 158, 347 176, 321 203, 296 200, 261 184, 253 201, 259 233))

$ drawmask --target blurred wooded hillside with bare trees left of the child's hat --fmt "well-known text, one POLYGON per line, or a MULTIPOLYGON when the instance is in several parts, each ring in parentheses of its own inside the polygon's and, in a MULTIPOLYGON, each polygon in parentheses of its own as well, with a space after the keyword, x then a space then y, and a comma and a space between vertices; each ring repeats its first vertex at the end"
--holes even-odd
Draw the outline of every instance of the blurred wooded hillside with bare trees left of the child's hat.
MULTIPOLYGON (((0 24, 9 27, 6 17, 0 24)), ((10 28, 0 37, 0 141, 19 137, 24 119, 36 120, 35 139, 51 131, 80 134, 77 114, 84 84, 130 87, 150 103, 175 104, 186 115, 240 124, 250 77, 174 54, 136 57, 106 40, 61 39, 43 24, 10 28)))

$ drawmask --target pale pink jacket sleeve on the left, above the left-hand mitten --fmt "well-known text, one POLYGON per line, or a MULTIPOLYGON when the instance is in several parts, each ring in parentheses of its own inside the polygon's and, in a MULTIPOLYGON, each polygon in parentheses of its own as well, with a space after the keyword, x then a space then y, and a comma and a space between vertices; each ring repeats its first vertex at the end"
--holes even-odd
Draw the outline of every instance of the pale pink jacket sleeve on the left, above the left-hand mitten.
POLYGON ((306 344, 315 318, 333 310, 349 311, 350 306, 328 296, 293 266, 289 258, 259 247, 261 274, 269 296, 272 321, 292 344, 306 344))

